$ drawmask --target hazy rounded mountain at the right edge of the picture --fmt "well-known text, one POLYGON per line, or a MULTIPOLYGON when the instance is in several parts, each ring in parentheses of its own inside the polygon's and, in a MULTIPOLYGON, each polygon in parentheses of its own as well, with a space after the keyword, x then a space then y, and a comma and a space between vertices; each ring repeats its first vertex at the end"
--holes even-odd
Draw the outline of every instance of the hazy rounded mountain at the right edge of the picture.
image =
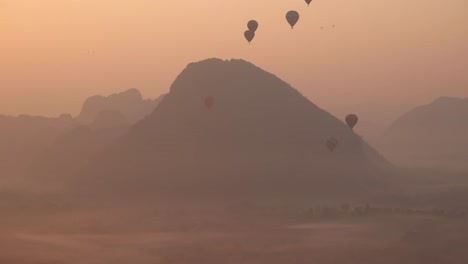
POLYGON ((468 168, 468 98, 441 97, 402 115, 377 146, 408 166, 468 168))

